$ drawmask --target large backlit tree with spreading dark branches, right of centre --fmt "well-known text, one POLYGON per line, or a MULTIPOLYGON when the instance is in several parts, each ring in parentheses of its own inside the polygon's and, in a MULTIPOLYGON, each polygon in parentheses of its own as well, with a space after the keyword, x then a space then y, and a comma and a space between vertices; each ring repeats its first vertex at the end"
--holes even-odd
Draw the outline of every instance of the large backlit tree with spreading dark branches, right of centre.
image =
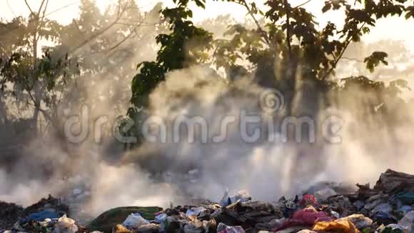
MULTIPOLYGON (((259 83, 277 86, 286 94, 288 103, 294 99, 298 71, 302 79, 316 83, 319 91, 329 91, 329 80, 350 44, 360 41, 363 34, 368 34, 378 19, 404 12, 410 14, 410 7, 404 6, 406 1, 384 0, 378 4, 375 1, 355 1, 355 4, 325 1, 322 11, 342 9, 345 11, 345 22, 342 29, 328 23, 318 30, 315 17, 302 7, 303 4, 291 6, 285 0, 266 1, 269 10, 263 12, 257 9, 256 4, 248 4, 245 0, 229 2, 246 7, 256 22, 256 17, 264 16, 267 24, 257 24, 253 30, 240 25, 232 26, 227 33, 232 34, 233 39, 218 41, 217 65, 231 69, 237 59, 246 57, 256 68, 259 83), (276 76, 272 74, 275 61, 278 64, 276 76)), ((373 71, 379 64, 387 64, 387 56, 384 52, 375 51, 364 62, 373 71)), ((291 104, 288 104, 287 111, 292 111, 291 104)))

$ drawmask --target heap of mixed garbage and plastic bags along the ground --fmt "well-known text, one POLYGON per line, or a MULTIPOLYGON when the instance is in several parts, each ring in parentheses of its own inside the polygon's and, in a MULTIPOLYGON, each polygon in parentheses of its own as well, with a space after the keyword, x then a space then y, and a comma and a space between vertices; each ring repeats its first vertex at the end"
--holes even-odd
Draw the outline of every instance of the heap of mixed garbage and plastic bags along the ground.
POLYGON ((197 200, 168 209, 119 207, 86 227, 70 219, 69 209, 52 197, 26 209, 9 204, 0 214, 1 221, 6 217, 5 224, 0 221, 1 233, 4 226, 12 229, 8 232, 53 233, 414 233, 414 175, 388 170, 374 187, 321 182, 276 202, 256 201, 242 191, 225 192, 218 203, 197 200))

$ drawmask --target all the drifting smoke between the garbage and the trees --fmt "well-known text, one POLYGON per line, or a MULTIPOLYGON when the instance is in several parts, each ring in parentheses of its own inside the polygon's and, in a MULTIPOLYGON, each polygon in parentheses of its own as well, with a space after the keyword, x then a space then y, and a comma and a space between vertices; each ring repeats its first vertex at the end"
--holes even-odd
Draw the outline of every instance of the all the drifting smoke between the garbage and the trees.
MULTIPOLYGON (((128 46, 131 44, 123 49, 128 50, 128 46)), ((128 56, 126 64, 155 56, 151 46, 141 47, 137 54, 128 56)), ((325 103, 315 101, 319 97, 312 86, 299 81, 295 109, 312 113, 317 139, 307 143, 306 132, 310 129, 305 129, 305 142, 298 143, 294 132, 288 130, 293 140, 284 142, 283 120, 290 116, 284 111, 269 113, 263 109, 261 96, 268 89, 256 84, 252 76, 239 76, 229 82, 206 66, 167 74, 166 81, 151 94, 150 109, 145 112, 148 119, 163 123, 156 124, 151 135, 158 135, 160 126, 165 125, 166 140, 144 141, 133 151, 124 152, 123 144, 113 139, 113 125, 118 115, 126 112, 129 83, 136 71, 128 69, 113 75, 117 69, 85 74, 76 83, 77 92, 69 91, 70 98, 59 108, 62 125, 56 131, 62 131, 63 124, 79 114, 82 106, 89 107, 89 134, 82 144, 62 142, 51 134, 21 142, 19 156, 1 164, 1 200, 27 206, 47 194, 69 197, 74 189, 82 189, 90 198, 71 199, 71 203, 81 202, 81 211, 96 216, 111 207, 168 207, 171 202, 184 203, 193 198, 219 201, 226 189, 246 189, 253 199, 271 202, 319 181, 373 183, 388 168, 414 172, 410 105, 395 110, 404 112, 405 119, 378 121, 377 115, 368 111, 375 96, 364 99, 363 90, 353 89, 340 95, 332 93, 331 97, 338 99, 337 111, 325 111, 325 103), (326 143, 321 126, 334 114, 343 122, 333 135, 340 136, 340 142, 326 143), (98 135, 102 140, 97 143, 95 123, 103 116, 107 119, 107 134, 98 135), (174 130, 180 117, 197 117, 194 142, 188 139, 190 130, 185 125, 174 130), (246 129, 248 136, 256 129, 260 131, 252 141, 246 141, 241 130, 246 117, 259 118, 246 129), (200 121, 206 124, 206 134, 200 121), (378 122, 390 125, 383 127, 376 125, 378 122)))

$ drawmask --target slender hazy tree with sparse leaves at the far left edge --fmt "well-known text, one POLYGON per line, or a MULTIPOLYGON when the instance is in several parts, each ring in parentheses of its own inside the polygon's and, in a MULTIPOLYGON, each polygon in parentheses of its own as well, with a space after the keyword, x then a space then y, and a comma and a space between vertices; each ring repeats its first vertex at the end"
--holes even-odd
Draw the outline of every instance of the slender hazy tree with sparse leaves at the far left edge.
POLYGON ((19 17, 3 24, 2 35, 8 44, 4 46, 1 59, 1 90, 17 99, 26 100, 33 109, 31 124, 36 134, 39 124, 39 114, 45 119, 52 118, 45 107, 56 98, 53 89, 66 77, 76 73, 74 64, 68 56, 52 57, 51 48, 39 48, 39 41, 59 41, 61 25, 46 18, 49 1, 41 1, 39 9, 33 11, 26 2, 31 14, 27 24, 19 17), (17 36, 17 39, 7 38, 17 36), (39 51, 42 51, 41 56, 39 51), (11 91, 12 89, 12 91, 11 91))

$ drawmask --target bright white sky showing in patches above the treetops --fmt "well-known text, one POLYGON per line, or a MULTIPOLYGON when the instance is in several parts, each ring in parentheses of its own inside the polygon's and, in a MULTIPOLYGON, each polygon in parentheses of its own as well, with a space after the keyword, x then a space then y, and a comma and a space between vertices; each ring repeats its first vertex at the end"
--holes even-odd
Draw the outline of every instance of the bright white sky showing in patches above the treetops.
MULTIPOLYGON (((39 7, 41 0, 27 0, 32 9, 39 7)), ((172 0, 136 0, 143 11, 148 11, 158 2, 163 2, 165 6, 173 6, 172 0)), ((353 0, 352 0, 353 1, 353 0)), ((116 0, 96 0, 97 5, 104 11, 109 5, 116 3, 116 0)), ((264 0, 255 1, 258 6, 263 6, 264 0)), ((290 0, 293 6, 303 4, 306 0, 290 0)), ((330 11, 328 14, 321 14, 325 0, 312 0, 306 4, 306 8, 311 11, 323 26, 328 21, 339 23, 343 21, 343 14, 340 11, 330 11)), ((69 24, 72 19, 79 15, 79 0, 49 0, 49 18, 59 21, 61 24, 69 24)), ((0 18, 12 19, 14 16, 28 16, 29 9, 26 7, 24 0, 0 0, 0 18)), ((237 21, 243 21, 246 18, 246 9, 237 4, 226 3, 223 1, 207 0, 206 9, 193 7, 194 21, 202 21, 206 18, 214 18, 221 14, 231 14, 237 21)), ((382 39, 394 39, 405 41, 412 51, 414 51, 414 19, 405 20, 403 17, 393 17, 380 20, 370 35, 365 36, 365 41, 379 41, 382 39)))

